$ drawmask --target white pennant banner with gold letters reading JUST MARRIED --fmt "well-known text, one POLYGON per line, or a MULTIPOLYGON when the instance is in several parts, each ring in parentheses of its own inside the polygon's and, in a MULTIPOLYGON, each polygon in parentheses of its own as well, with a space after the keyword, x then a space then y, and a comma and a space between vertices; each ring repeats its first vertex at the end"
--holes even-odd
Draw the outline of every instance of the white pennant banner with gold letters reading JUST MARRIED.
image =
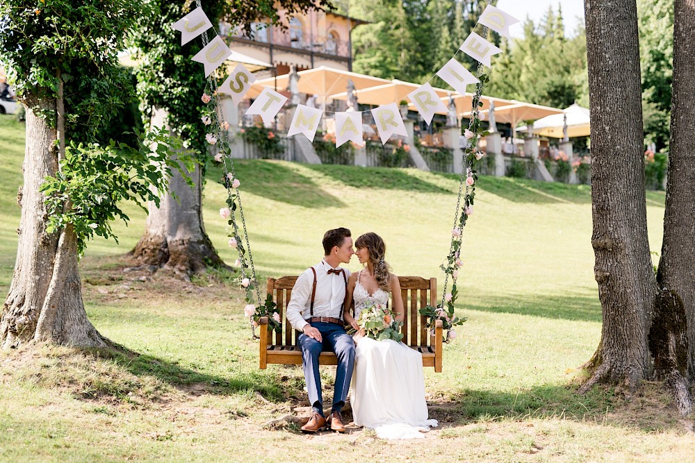
MULTIPOLYGON (((487 6, 480 15, 478 22, 490 28, 499 35, 509 37, 509 26, 518 23, 518 19, 512 17, 507 12, 494 6, 487 6)), ((195 37, 202 35, 208 28, 212 27, 211 21, 205 15, 202 8, 196 8, 188 15, 175 22, 172 27, 181 31, 181 44, 186 44, 195 37)), ((471 56, 477 62, 486 67, 491 67, 492 56, 501 53, 502 50, 486 40, 484 37, 471 32, 459 50, 471 56)), ((458 53, 458 51, 456 53, 458 53)), ((459 62, 455 55, 441 68, 436 71, 447 85, 459 94, 466 94, 466 86, 480 82, 464 65, 459 62)), ((205 76, 217 69, 224 60, 229 58, 231 50, 225 44, 222 37, 216 35, 206 46, 199 51, 193 60, 201 62, 204 67, 205 76)), ((430 81, 432 78, 430 78, 430 81)), ((224 83, 219 87, 220 93, 229 94, 235 105, 238 105, 256 81, 253 74, 244 67, 237 65, 224 83)), ((417 90, 408 94, 408 99, 413 103, 416 110, 420 113, 427 124, 432 124, 432 118, 436 112, 445 112, 441 98, 436 94, 429 81, 418 87, 417 90)), ((264 87, 261 94, 255 99, 254 103, 246 111, 246 115, 259 115, 263 119, 265 126, 270 126, 277 116, 277 113, 286 103, 287 98, 270 87, 264 87)), ((323 110, 311 108, 309 106, 298 105, 290 124, 288 136, 302 133, 309 140, 313 141, 318 130, 319 121, 323 110)), ((371 110, 379 138, 382 144, 386 144, 392 135, 407 136, 404 121, 398 110, 396 102, 378 106, 371 110)), ((336 146, 352 141, 362 145, 362 113, 359 111, 335 112, 336 120, 336 146)))

